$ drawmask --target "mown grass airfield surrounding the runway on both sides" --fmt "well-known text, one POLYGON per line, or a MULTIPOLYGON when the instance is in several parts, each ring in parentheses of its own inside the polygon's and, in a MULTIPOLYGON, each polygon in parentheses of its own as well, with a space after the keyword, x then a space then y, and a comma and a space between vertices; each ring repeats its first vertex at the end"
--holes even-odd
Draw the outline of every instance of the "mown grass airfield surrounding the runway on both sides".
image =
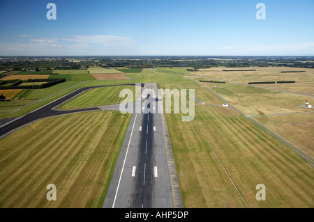
MULTIPOLYGON (((258 69, 263 72, 263 68, 258 69)), ((273 73, 267 68, 264 70, 265 75, 273 73)), ((310 70, 306 71, 313 77, 310 70)), ((74 70, 71 72, 72 80, 82 79, 83 73, 75 77, 74 70)), ((255 77, 219 70, 210 72, 196 74, 243 82, 255 77)), ((183 68, 156 68, 126 73, 128 80, 95 81, 85 76, 84 81, 67 81, 28 91, 25 97, 40 100, 24 109, 1 112, 0 117, 24 115, 83 86, 109 84, 151 82, 164 89, 193 88, 195 96, 206 104, 223 103, 204 87, 211 88, 214 84, 197 84, 202 77, 188 74, 183 68)), ((258 75, 262 78, 262 74, 258 75)), ((265 78, 272 77, 262 79, 265 78)), ((313 124, 301 127, 308 120, 313 121, 314 113, 297 114, 293 118, 264 116, 307 111, 298 106, 303 102, 302 95, 239 84, 215 85, 218 87, 211 90, 232 106, 245 115, 257 116, 254 117, 257 121, 313 157, 313 124), (308 148, 300 143, 304 138, 308 148)), ((287 87, 297 91, 292 85, 287 87)), ((309 85, 304 87, 302 93, 311 90, 309 85)), ((105 97, 110 92, 103 90, 95 94, 94 91, 93 94, 92 97, 105 97)), ((111 95, 114 97, 114 93, 111 95)), ((118 97, 119 92, 114 101, 119 102, 118 97)), ((88 107, 91 103, 86 98, 82 94, 76 98, 78 104, 75 99, 69 104, 88 107)), ((109 99, 98 101, 99 105, 107 103, 109 99)), ((1 107, 0 110, 3 111, 1 107)), ((114 111, 76 113, 40 120, 1 139, 0 207, 101 207, 129 119, 130 115, 114 111), (50 183, 57 186, 57 201, 45 198, 48 191, 45 188, 50 183)), ((314 207, 313 166, 230 107, 202 106, 195 102, 193 121, 182 122, 181 114, 173 113, 166 114, 166 120, 185 207, 314 207), (257 184, 266 186, 264 201, 255 198, 257 184)))

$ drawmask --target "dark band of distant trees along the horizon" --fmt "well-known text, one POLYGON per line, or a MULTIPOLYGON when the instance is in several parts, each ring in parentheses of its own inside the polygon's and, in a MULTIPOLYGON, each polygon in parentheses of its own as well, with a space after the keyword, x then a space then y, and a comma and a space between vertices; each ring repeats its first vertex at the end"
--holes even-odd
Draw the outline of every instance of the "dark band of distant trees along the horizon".
POLYGON ((313 56, 76 56, 79 62, 74 63, 66 56, 46 59, 16 57, 0 61, 0 70, 78 70, 89 66, 103 68, 155 68, 155 67, 194 67, 226 68, 244 67, 295 67, 314 68, 313 56), (81 61, 82 60, 82 61, 81 61))

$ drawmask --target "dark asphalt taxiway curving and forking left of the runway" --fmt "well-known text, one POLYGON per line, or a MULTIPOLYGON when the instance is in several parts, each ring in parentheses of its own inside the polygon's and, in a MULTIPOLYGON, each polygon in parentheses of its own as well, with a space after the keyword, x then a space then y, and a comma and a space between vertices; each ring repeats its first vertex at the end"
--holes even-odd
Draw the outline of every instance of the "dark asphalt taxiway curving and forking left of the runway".
MULTIPOLYGON (((109 85, 109 86, 125 86, 125 85, 135 86, 135 84, 120 84, 120 85, 109 85)), ((4 125, 1 125, 0 126, 0 138, 3 138, 4 136, 7 136, 8 134, 14 132, 16 129, 20 129, 23 126, 28 125, 29 123, 34 122, 36 120, 40 120, 42 118, 47 118, 51 116, 59 116, 59 115, 64 115, 68 113, 101 110, 98 107, 91 107, 91 108, 86 108, 86 109, 74 109, 74 110, 68 110, 68 111, 59 111, 59 110, 54 109, 60 104, 62 104, 63 102, 66 102, 70 99, 73 99, 73 97, 76 97, 77 95, 80 95, 81 93, 84 93, 84 91, 86 90, 89 90, 91 88, 100 88, 100 87, 108 87, 108 86, 91 86, 91 87, 80 88, 78 90, 75 90, 72 93, 69 93, 68 95, 65 95, 57 100, 54 100, 53 102, 50 102, 49 104, 46 104, 45 106, 40 107, 39 109, 36 109, 35 111, 31 111, 30 113, 27 113, 26 115, 20 118, 15 118, 13 121, 10 121, 4 125)))

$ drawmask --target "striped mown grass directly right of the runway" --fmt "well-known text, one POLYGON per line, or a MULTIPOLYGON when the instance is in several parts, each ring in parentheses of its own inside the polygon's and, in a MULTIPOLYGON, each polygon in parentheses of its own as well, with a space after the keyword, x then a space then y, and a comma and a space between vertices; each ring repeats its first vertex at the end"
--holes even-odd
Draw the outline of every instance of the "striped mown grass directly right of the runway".
POLYGON ((197 104, 193 121, 166 119, 185 207, 313 207, 313 167, 239 113, 197 104), (255 199, 257 184, 266 201, 255 199))

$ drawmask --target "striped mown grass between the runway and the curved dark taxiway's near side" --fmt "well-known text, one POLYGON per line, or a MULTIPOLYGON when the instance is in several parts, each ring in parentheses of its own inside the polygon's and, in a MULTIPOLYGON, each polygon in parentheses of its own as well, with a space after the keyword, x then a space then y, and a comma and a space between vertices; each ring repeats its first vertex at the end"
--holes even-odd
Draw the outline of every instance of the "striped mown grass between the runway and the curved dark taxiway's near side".
POLYGON ((0 207, 101 207, 129 120, 119 112, 77 113, 1 139, 0 207), (56 185, 56 201, 47 201, 47 184, 56 185))

